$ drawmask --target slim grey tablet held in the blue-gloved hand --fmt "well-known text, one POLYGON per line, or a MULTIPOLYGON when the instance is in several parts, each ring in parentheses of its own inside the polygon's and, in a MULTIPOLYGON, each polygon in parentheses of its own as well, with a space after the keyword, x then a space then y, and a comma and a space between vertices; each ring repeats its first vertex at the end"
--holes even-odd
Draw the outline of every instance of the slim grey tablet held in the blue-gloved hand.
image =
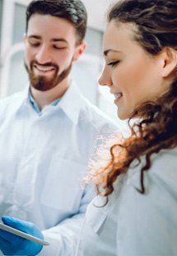
POLYGON ((16 230, 16 229, 12 228, 9 225, 3 224, 2 222, 0 222, 0 229, 1 230, 5 230, 7 232, 10 232, 10 233, 12 233, 14 235, 21 236, 22 238, 28 239, 28 240, 30 240, 32 242, 37 243, 37 244, 49 245, 49 242, 44 241, 43 239, 39 239, 39 238, 37 238, 37 237, 35 237, 33 235, 29 235, 29 234, 27 234, 27 233, 25 233, 25 232, 23 232, 21 230, 16 230))

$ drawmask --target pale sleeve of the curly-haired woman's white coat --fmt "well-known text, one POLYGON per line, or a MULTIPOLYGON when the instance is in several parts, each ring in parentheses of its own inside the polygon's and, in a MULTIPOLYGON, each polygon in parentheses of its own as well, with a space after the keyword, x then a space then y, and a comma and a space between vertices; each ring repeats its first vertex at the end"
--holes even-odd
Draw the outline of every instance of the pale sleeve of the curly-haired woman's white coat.
POLYGON ((176 255, 176 156, 161 155, 145 173, 145 194, 137 192, 139 173, 123 192, 117 227, 117 255, 176 255))

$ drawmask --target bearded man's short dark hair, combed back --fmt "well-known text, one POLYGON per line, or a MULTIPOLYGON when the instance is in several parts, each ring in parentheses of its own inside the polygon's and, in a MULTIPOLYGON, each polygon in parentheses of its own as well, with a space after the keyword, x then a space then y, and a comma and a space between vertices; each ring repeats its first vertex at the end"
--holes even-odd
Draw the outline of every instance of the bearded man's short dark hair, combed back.
POLYGON ((30 17, 35 13, 49 14, 70 21, 76 29, 77 44, 86 35, 86 7, 80 0, 33 0, 26 8, 26 31, 30 17))

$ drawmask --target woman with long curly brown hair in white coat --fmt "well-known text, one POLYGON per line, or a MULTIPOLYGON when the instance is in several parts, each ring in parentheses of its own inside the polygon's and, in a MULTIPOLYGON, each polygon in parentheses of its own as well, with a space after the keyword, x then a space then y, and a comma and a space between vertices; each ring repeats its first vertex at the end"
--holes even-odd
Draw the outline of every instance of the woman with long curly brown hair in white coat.
POLYGON ((77 255, 177 255, 177 1, 115 3, 104 55, 100 85, 114 94, 131 135, 91 173, 98 197, 77 255))

